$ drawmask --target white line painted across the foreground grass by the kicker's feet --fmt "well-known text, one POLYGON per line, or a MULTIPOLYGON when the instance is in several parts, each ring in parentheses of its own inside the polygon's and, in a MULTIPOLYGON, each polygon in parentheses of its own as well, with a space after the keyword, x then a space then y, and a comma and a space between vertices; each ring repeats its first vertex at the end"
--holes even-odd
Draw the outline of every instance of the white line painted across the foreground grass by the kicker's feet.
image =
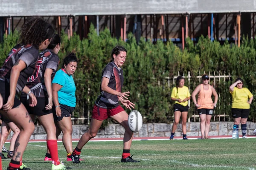
MULTIPOLYGON (((42 145, 35 145, 35 144, 28 144, 28 146, 37 146, 37 147, 44 147, 46 148, 46 146, 42 146, 42 145)), ((61 150, 61 149, 58 149, 61 150)), ((142 156, 146 156, 148 154, 142 155, 142 156)), ((156 154, 156 155, 161 155, 161 154, 156 154)), ((103 158, 100 156, 86 156, 86 155, 80 155, 81 157, 85 157, 85 158, 103 158)), ((108 157, 104 157, 104 158, 111 158, 111 159, 120 159, 120 157, 113 157, 113 156, 108 156, 108 157)), ((152 159, 138 159, 138 160, 143 160, 143 161, 154 161, 152 159)), ((246 169, 246 170, 256 170, 253 167, 235 167, 235 166, 227 166, 227 165, 200 165, 200 164, 193 164, 190 162, 183 162, 183 161, 177 161, 177 160, 169 160, 170 163, 176 163, 176 164, 183 164, 185 166, 192 166, 192 167, 215 167, 215 168, 240 168, 240 169, 246 169)))

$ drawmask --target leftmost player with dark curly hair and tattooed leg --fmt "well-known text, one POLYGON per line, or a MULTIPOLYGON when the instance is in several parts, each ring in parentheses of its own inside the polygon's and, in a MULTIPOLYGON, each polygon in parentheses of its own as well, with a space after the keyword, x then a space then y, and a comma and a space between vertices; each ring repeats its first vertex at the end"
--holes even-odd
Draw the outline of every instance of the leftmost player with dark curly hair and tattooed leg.
POLYGON ((37 104, 35 96, 29 92, 30 89, 24 87, 26 80, 35 71, 38 50, 47 48, 53 34, 54 29, 49 23, 38 17, 29 18, 20 29, 20 44, 12 48, 0 69, 0 94, 4 104, 4 111, 0 111, 1 116, 6 116, 20 128, 7 170, 30 170, 23 165, 22 156, 35 125, 15 94, 23 90, 30 98, 30 106, 37 104))

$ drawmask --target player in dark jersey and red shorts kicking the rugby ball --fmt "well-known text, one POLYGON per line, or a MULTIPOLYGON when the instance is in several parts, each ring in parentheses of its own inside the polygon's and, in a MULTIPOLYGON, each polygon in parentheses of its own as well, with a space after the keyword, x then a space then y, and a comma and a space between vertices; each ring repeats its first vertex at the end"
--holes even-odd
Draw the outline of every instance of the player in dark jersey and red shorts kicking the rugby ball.
POLYGON ((81 136, 75 150, 71 155, 73 163, 80 163, 79 157, 81 149, 92 138, 94 138, 102 122, 108 117, 114 119, 125 128, 124 146, 121 162, 140 162, 132 159, 130 156, 130 147, 133 139, 133 132, 128 127, 128 114, 119 105, 121 102, 126 108, 134 108, 134 103, 127 98, 129 91, 121 92, 123 85, 123 71, 121 66, 126 59, 126 49, 122 46, 116 46, 111 53, 112 62, 108 63, 102 71, 101 94, 96 99, 93 107, 92 119, 87 133, 81 136))

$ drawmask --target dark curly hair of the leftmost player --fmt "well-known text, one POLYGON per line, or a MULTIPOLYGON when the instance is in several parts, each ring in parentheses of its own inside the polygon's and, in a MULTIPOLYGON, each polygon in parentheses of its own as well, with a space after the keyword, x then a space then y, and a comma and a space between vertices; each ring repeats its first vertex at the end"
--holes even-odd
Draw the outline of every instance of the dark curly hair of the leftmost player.
POLYGON ((32 44, 39 48, 40 44, 51 39, 54 34, 52 26, 39 17, 31 17, 20 29, 20 44, 32 44))

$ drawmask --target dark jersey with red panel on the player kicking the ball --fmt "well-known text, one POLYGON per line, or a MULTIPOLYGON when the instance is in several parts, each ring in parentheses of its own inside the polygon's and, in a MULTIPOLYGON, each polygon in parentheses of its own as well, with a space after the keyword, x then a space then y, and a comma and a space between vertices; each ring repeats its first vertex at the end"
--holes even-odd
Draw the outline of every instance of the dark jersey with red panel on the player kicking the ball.
MULTIPOLYGON (((122 68, 118 68, 114 62, 108 63, 102 71, 102 78, 107 77, 109 79, 108 87, 113 90, 122 91, 122 85, 124 81, 122 68)), ((101 87, 101 85, 100 85, 101 87)), ((100 108, 116 108, 119 105, 118 97, 113 94, 109 94, 102 91, 96 99, 95 104, 100 108)))

